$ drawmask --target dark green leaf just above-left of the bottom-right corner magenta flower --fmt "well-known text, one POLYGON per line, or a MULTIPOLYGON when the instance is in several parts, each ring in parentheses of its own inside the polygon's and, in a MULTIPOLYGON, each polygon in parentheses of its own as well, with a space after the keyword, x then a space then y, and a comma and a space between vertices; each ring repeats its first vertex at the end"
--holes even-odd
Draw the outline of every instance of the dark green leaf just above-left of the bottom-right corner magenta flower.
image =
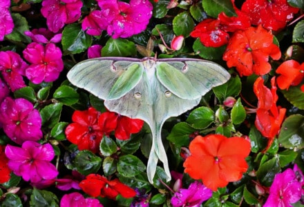
POLYGON ((281 171, 281 166, 278 163, 278 159, 273 157, 268 161, 265 161, 263 164, 260 165, 258 170, 256 171, 256 177, 260 181, 263 186, 271 186, 272 181, 274 181, 274 176, 276 173, 281 171))

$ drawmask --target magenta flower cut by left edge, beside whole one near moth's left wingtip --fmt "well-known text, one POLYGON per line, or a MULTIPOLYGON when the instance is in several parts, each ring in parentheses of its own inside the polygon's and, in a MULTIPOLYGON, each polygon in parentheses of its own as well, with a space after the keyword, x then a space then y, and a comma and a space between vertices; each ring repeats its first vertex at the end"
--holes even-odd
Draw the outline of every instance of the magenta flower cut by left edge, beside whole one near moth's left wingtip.
POLYGON ((22 77, 26 75, 26 67, 26 62, 16 52, 0 52, 0 71, 12 92, 26 86, 22 77))

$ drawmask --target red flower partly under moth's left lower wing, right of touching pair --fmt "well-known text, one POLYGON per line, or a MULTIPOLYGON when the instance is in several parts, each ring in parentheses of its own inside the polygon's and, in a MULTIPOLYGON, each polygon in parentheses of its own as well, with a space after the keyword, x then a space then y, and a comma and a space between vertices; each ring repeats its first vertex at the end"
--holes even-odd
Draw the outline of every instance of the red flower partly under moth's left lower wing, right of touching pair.
POLYGON ((122 140, 130 139, 131 134, 140 132, 144 125, 140 119, 131 119, 115 112, 102 113, 98 122, 104 133, 109 134, 115 130, 115 137, 122 140))

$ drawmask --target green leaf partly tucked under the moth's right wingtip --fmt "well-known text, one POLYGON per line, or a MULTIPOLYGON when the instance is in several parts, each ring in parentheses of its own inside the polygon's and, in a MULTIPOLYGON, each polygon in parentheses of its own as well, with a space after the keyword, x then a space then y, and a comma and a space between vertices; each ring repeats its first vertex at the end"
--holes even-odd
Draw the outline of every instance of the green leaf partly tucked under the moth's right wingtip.
POLYGON ((216 86, 213 88, 213 92, 216 97, 222 102, 227 97, 236 97, 240 94, 240 90, 242 88, 242 83, 240 82, 240 77, 236 75, 236 77, 231 77, 229 81, 222 86, 216 86))

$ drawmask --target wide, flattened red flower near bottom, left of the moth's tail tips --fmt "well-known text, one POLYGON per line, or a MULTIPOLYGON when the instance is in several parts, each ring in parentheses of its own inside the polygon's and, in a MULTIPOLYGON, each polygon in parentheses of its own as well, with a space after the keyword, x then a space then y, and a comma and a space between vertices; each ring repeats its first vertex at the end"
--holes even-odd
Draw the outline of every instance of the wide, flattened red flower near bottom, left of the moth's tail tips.
POLYGON ((80 182, 79 187, 91 197, 100 196, 115 200, 119 194, 124 198, 131 198, 136 195, 133 188, 122 184, 119 179, 109 181, 106 177, 97 174, 88 175, 86 179, 80 182))

